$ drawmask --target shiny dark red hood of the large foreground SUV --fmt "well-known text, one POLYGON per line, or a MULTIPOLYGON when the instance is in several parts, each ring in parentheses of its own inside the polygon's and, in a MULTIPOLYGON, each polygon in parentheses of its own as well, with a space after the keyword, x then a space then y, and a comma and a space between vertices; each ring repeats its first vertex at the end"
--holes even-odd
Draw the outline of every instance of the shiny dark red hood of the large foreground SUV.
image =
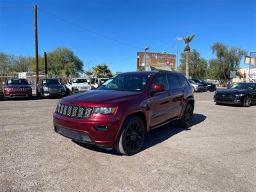
POLYGON ((108 104, 130 100, 137 97, 141 92, 121 92, 115 90, 90 90, 88 92, 70 95, 61 99, 66 104, 70 102, 86 102, 90 104, 108 104))

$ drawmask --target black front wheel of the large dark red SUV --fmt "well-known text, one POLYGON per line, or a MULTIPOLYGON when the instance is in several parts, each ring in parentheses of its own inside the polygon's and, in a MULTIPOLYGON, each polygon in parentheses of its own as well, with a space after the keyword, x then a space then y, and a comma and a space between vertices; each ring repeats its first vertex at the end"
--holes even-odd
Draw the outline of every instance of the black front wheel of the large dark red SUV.
POLYGON ((132 156, 139 152, 145 138, 145 127, 137 116, 125 120, 115 150, 121 154, 132 156))

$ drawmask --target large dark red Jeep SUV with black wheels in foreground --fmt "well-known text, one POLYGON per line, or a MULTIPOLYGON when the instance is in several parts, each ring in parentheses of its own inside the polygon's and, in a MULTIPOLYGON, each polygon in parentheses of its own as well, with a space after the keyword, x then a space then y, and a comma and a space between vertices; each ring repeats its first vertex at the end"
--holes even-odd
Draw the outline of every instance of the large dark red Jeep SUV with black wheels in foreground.
POLYGON ((177 72, 127 72, 97 90, 61 99, 54 130, 67 138, 136 154, 146 132, 172 120, 191 126, 193 88, 177 72))

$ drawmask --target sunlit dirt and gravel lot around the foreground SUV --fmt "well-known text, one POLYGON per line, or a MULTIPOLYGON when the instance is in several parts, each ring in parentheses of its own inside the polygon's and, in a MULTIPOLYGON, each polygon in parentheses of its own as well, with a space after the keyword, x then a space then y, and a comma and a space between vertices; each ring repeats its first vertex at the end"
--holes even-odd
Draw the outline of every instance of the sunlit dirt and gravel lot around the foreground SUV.
POLYGON ((0 191, 256 191, 256 106, 195 93, 191 129, 147 135, 131 157, 54 132, 57 99, 0 101, 0 191))

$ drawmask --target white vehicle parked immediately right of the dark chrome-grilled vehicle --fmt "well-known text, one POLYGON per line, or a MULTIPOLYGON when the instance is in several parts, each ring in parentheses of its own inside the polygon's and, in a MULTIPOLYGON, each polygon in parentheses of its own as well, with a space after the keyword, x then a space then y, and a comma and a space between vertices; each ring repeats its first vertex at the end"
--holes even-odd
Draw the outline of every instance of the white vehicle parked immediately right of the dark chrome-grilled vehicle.
POLYGON ((91 86, 87 82, 87 79, 85 79, 85 78, 68 79, 66 88, 67 88, 68 92, 70 92, 72 94, 78 93, 78 92, 86 92, 88 90, 91 90, 91 86))

